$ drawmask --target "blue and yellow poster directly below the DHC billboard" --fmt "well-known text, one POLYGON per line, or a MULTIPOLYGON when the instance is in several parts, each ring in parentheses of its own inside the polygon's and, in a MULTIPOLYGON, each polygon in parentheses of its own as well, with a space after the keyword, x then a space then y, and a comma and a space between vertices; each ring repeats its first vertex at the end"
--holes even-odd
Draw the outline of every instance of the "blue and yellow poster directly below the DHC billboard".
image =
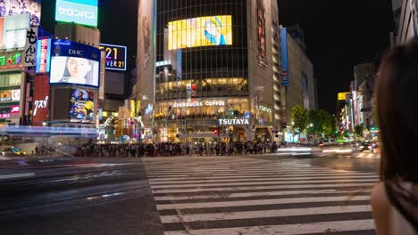
POLYGON ((94 93, 91 91, 72 89, 70 101, 71 122, 92 122, 94 120, 94 93))

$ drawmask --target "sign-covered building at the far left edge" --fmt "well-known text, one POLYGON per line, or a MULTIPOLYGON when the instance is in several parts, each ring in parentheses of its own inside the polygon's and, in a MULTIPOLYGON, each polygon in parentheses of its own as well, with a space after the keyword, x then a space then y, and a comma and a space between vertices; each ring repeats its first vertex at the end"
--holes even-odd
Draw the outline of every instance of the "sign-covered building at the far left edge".
POLYGON ((29 125, 41 4, 10 1, 2 11, 7 14, 0 17, 0 126, 29 125))

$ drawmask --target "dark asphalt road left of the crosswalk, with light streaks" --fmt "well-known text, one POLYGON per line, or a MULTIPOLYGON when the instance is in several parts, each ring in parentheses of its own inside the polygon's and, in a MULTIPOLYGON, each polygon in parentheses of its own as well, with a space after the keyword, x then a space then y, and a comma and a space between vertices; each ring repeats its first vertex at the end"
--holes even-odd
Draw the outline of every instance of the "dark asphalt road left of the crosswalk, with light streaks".
POLYGON ((138 158, 0 162, 0 234, 163 234, 138 158))

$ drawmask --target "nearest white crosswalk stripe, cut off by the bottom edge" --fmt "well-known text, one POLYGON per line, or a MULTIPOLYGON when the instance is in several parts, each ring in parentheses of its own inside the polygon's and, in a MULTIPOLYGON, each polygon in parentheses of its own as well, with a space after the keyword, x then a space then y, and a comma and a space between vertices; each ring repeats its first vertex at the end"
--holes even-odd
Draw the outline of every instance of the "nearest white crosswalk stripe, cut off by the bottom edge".
POLYGON ((203 229, 192 231, 165 231, 165 235, 300 235, 314 233, 331 233, 338 231, 369 231, 373 230, 373 220, 352 220, 321 223, 296 223, 269 226, 237 227, 222 229, 203 229))

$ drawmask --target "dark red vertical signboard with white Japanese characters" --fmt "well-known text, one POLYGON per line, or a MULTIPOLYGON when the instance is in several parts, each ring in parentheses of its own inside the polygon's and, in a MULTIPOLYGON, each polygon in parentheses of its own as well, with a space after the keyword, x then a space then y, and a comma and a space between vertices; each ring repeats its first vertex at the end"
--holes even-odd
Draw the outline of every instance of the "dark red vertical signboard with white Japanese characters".
POLYGON ((49 77, 36 75, 33 85, 32 126, 42 126, 48 120, 49 77))

